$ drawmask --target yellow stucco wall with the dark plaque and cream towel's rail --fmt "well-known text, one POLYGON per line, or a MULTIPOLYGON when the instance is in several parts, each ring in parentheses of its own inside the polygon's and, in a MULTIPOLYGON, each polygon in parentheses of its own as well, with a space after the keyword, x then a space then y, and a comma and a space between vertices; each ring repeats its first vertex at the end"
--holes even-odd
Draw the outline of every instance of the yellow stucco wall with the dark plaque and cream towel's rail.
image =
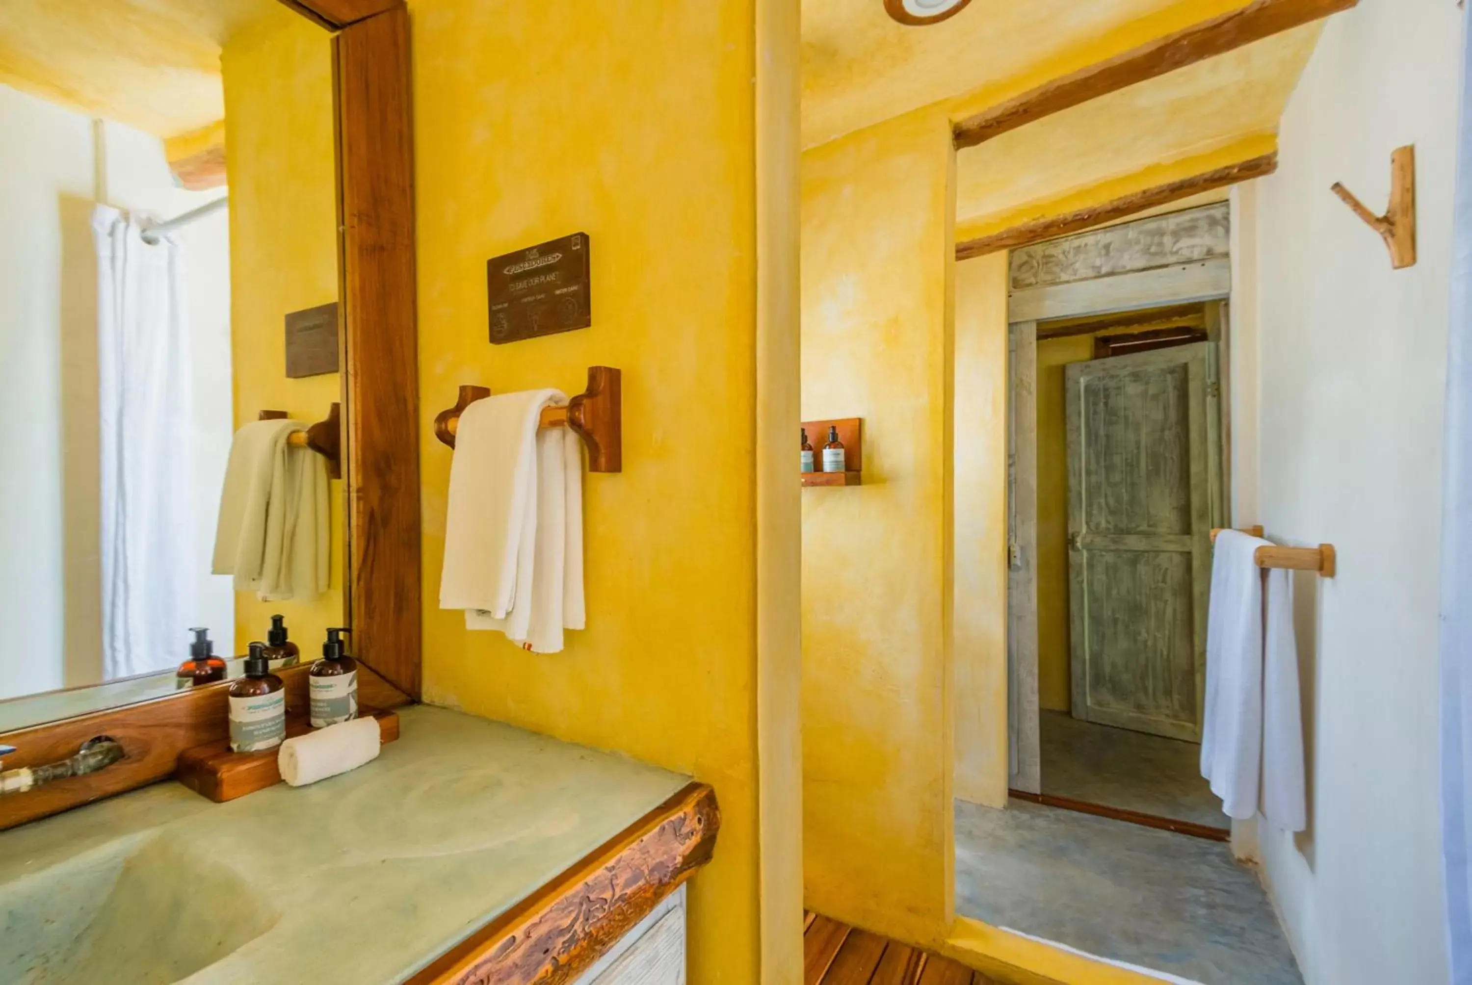
MULTIPOLYGON (((758 721, 765 754, 790 760, 796 749, 795 716, 762 719, 761 704, 764 688, 796 691, 796 640, 785 657, 758 646, 757 586, 758 521, 773 521, 758 504, 780 514, 786 496, 795 545, 796 483, 761 499, 754 464, 771 433, 757 423, 758 396, 760 420, 790 421, 780 428, 789 443, 796 434, 795 325, 770 324, 792 306, 780 283, 783 269, 795 277, 790 249, 761 272, 770 306, 758 315, 758 180, 785 171, 795 181, 790 163, 757 168, 754 77, 790 66, 796 44, 796 7, 783 3, 409 4, 424 695, 715 788, 720 842, 692 883, 690 978, 701 984, 762 981, 760 901, 783 892, 773 911, 789 917, 771 929, 783 939, 765 950, 785 975, 765 981, 795 982, 801 964, 796 847, 789 867, 773 870, 758 842, 795 839, 798 816, 795 777, 788 789, 761 786, 758 769, 758 721), (758 15, 764 32, 790 31, 761 38, 762 54, 776 50, 767 68, 758 15), (577 231, 590 237, 593 327, 490 346, 486 261, 577 231), (758 350, 764 331, 776 345, 758 350), (556 655, 467 633, 462 614, 437 605, 450 451, 433 439, 433 418, 462 383, 576 393, 595 364, 624 373, 624 471, 584 480, 587 629, 556 655), (789 380, 758 393, 758 367, 785 367, 789 380), (770 830, 758 832, 758 811, 770 830)), ((795 125, 789 82, 762 90, 771 133, 783 105, 795 125)), ((795 133, 788 144, 790 155, 795 133)), ((790 240, 792 196, 762 203, 776 227, 789 209, 790 240)), ((782 237, 773 222, 761 225, 768 247, 782 237)), ((770 564, 780 571, 783 561, 770 564)), ((790 585, 795 551, 786 564, 790 585)), ((780 604, 795 632, 795 590, 780 604)), ((782 624, 780 610, 767 611, 762 632, 780 636, 782 624)))

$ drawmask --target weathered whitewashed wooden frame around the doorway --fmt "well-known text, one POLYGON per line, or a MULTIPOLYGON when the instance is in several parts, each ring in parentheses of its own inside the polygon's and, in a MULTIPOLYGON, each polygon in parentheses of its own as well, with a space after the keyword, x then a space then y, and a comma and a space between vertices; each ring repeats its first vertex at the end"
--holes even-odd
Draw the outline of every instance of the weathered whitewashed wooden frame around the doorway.
POLYGON ((1007 364, 1007 733, 1008 788, 1042 792, 1042 744, 1038 701, 1038 322, 1054 318, 1113 315, 1144 308, 1201 302, 1216 334, 1220 374, 1220 434, 1223 524, 1231 523, 1231 471, 1228 458, 1231 403, 1226 362, 1229 353, 1231 259, 1189 264, 1095 281, 1033 287, 1008 297, 1007 364), (1098 281, 1108 281, 1100 284, 1098 281), (1089 292, 1089 284, 1103 287, 1089 292), (1094 294, 1094 297, 1091 297, 1094 294), (1022 297, 1014 309, 1013 300, 1022 297), (1014 311, 1026 315, 1014 318, 1014 311), (1041 315, 1041 317, 1039 317, 1041 315), (1030 492, 1029 492, 1030 490, 1030 492), (1026 602, 1030 601, 1030 605, 1026 602), (1019 605, 1023 602, 1025 605, 1019 605), (1030 608, 1030 615, 1026 612, 1030 608), (1014 717, 1020 716, 1020 717, 1014 717))

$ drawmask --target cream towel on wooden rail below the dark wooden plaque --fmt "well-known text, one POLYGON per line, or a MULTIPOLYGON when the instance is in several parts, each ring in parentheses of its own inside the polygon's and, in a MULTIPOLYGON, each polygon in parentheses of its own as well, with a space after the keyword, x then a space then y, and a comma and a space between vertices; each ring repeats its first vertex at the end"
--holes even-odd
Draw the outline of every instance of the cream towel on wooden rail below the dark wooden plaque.
POLYGON ((450 462, 440 608, 539 654, 583 629, 583 459, 565 427, 539 430, 559 390, 475 400, 450 462))

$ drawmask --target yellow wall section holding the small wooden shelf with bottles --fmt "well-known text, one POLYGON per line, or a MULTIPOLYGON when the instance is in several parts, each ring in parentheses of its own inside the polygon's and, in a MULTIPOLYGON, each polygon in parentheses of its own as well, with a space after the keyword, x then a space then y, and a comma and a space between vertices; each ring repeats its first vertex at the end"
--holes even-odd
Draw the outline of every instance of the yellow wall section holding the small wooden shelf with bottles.
POLYGON ((949 147, 921 112, 802 156, 802 415, 866 442, 802 498, 807 900, 907 939, 952 892, 949 147))

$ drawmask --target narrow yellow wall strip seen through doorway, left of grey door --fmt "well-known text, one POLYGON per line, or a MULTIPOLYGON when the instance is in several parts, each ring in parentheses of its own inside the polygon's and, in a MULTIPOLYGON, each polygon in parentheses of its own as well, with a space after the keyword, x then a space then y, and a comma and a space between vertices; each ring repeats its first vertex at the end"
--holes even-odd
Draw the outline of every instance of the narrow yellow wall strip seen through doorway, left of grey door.
POLYGON ((1063 371, 1094 336, 1038 342, 1038 707, 1069 710, 1069 431, 1063 371))

